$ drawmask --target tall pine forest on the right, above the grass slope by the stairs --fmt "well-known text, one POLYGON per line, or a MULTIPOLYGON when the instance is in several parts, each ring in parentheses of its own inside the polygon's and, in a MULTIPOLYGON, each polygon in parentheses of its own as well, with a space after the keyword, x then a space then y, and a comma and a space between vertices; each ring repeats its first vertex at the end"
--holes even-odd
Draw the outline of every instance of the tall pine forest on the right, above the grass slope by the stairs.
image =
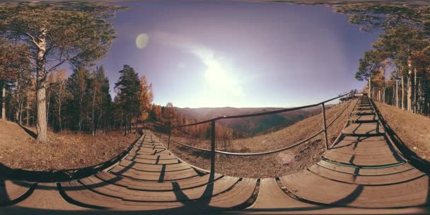
POLYGON ((364 31, 383 31, 359 60, 355 78, 371 98, 430 115, 430 7, 423 4, 344 4, 335 11, 364 31))

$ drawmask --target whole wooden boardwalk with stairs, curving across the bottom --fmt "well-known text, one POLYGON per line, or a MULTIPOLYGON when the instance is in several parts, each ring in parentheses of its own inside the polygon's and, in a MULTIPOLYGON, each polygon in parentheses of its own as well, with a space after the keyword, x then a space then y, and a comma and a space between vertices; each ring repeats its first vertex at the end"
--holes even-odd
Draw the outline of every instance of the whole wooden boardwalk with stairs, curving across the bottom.
POLYGON ((59 183, 0 179, 0 214, 430 213, 429 175, 390 144, 362 97, 322 159, 281 178, 233 178, 189 165, 144 131, 120 162, 59 183))

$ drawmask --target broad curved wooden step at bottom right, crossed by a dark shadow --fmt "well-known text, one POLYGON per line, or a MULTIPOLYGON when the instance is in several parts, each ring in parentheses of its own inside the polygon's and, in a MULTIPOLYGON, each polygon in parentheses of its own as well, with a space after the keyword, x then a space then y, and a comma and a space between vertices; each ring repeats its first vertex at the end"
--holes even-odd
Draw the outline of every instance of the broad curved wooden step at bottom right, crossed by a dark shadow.
POLYGON ((425 204, 428 176, 393 185, 356 185, 324 178, 309 171, 281 178, 286 188, 302 199, 352 207, 409 207, 425 204))

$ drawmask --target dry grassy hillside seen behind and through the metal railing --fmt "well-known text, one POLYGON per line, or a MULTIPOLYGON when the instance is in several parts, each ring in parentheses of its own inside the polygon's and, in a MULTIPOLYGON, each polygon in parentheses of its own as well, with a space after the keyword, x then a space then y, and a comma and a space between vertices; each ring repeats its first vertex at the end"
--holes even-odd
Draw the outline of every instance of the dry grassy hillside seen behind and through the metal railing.
MULTIPOLYGON (((356 100, 352 101, 353 103, 356 100)), ((342 110, 345 110, 350 103, 341 103, 327 110, 327 122, 331 122, 342 110)), ((350 112, 353 105, 349 105, 350 112)), ((347 122, 347 110, 341 117, 328 129, 330 142, 342 131, 344 124, 347 122)), ((279 149, 289 146, 312 136, 322 129, 322 114, 309 117, 306 120, 296 122, 289 127, 277 132, 255 136, 249 139, 237 139, 228 144, 226 151, 236 152, 258 152, 279 149)), ((297 146, 293 149, 274 153, 266 156, 226 156, 216 155, 216 172, 224 175, 231 175, 242 178, 270 178, 296 173, 308 168, 320 159, 325 152, 325 146, 321 141, 322 136, 317 136, 309 141, 308 144, 297 146)), ((189 138, 173 136, 172 139, 181 141, 185 144, 191 144, 201 148, 209 149, 209 141, 192 141, 189 138)), ((165 141, 162 141, 165 144, 165 141)), ((217 149, 223 149, 223 141, 217 142, 217 149)), ((170 151, 176 156, 196 165, 199 168, 209 170, 210 161, 209 153, 189 149, 178 144, 170 144, 170 151)))

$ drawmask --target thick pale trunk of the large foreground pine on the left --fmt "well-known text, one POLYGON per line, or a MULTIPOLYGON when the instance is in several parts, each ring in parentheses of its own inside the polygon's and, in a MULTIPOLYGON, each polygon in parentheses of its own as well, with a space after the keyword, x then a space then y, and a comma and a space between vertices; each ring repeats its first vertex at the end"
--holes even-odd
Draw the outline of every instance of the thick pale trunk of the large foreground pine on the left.
POLYGON ((37 50, 36 68, 36 103, 37 103, 37 141, 45 143, 47 136, 47 110, 46 110, 46 72, 45 72, 45 41, 46 33, 42 30, 37 50))

